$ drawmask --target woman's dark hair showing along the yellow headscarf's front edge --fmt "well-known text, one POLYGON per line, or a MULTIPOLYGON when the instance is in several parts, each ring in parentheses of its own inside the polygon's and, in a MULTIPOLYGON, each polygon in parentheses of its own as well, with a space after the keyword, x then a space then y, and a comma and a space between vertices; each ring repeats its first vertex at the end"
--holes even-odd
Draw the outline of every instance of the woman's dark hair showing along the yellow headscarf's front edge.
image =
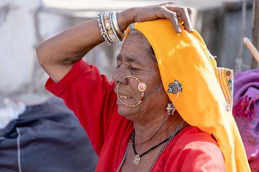
POLYGON ((142 40, 143 48, 145 48, 150 57, 157 62, 155 52, 151 44, 149 43, 148 39, 143 35, 143 33, 141 33, 139 30, 133 29, 129 31, 128 36, 129 35, 137 35, 142 40))

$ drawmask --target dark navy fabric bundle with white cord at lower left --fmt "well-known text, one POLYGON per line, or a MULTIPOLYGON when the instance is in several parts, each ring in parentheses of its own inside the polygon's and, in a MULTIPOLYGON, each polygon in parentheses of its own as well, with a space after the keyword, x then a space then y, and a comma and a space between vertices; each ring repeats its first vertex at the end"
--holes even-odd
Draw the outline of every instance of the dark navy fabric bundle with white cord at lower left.
POLYGON ((0 129, 0 171, 94 171, 98 156, 60 98, 27 107, 0 129))

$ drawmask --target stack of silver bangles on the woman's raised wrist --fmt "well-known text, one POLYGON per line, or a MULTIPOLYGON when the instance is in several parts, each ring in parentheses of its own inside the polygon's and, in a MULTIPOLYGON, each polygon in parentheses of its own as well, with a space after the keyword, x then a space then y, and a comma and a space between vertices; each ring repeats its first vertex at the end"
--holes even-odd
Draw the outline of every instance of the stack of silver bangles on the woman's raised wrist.
POLYGON ((101 36, 108 44, 112 45, 115 42, 123 41, 125 36, 120 30, 117 22, 118 12, 98 13, 97 21, 100 27, 101 36))

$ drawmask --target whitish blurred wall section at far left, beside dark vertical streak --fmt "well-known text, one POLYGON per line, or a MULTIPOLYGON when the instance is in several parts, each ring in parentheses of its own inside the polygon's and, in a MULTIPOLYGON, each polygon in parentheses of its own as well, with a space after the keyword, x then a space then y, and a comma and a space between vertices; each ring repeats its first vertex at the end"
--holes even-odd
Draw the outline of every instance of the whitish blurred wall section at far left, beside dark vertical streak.
POLYGON ((35 85, 38 0, 0 1, 0 93, 35 85))

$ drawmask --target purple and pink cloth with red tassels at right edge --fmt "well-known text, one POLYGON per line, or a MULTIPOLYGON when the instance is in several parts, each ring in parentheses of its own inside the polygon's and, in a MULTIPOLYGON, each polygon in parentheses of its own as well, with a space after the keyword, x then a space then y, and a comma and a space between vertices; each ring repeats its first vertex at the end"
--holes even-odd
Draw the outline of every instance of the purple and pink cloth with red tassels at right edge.
POLYGON ((234 76, 233 115, 252 171, 259 170, 259 70, 234 76))

